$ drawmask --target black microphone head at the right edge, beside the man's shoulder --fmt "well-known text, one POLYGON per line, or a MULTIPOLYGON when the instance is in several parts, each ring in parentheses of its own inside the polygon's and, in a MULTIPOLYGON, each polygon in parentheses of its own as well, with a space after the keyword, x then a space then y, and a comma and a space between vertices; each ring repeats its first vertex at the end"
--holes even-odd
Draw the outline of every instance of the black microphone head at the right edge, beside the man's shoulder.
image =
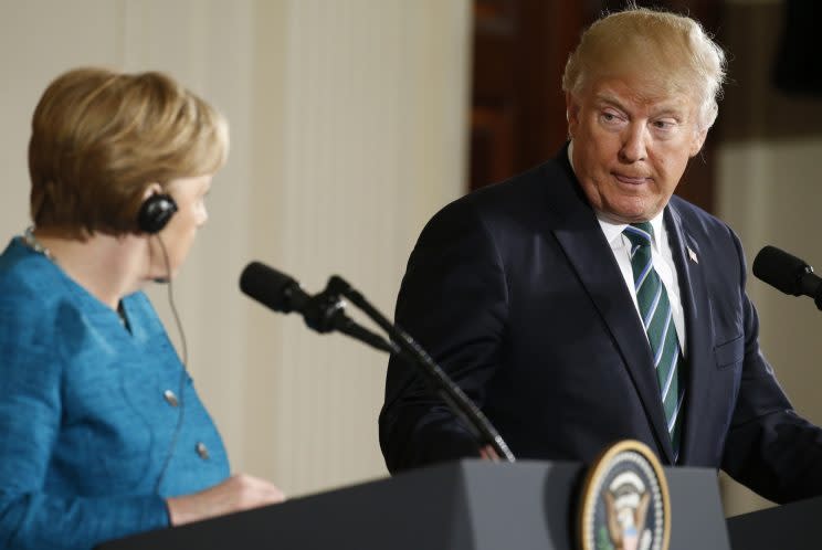
POLYGON ((753 275, 791 296, 810 296, 822 309, 822 278, 813 267, 776 246, 766 246, 753 258, 753 275))

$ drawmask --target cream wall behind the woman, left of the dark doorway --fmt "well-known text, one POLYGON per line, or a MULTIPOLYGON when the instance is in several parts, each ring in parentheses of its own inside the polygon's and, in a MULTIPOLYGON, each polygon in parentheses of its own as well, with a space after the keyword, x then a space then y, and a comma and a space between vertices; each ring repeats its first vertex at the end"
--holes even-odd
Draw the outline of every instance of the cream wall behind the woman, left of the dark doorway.
MULTIPOLYGON (((386 358, 265 310, 238 277, 254 258, 308 290, 338 273, 391 314, 422 224, 462 192, 470 13, 467 0, 0 0, 0 234, 28 223, 28 125, 51 78, 170 72, 231 121, 175 296, 235 469, 292 496, 383 476, 386 358)), ((170 319, 165 288, 150 295, 170 319)))

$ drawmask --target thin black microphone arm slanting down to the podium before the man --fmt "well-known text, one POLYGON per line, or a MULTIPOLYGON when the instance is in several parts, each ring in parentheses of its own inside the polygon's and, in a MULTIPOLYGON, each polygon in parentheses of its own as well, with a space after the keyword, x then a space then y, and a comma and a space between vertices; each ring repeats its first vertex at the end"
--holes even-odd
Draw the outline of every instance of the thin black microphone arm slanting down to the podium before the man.
POLYGON ((369 346, 401 357, 409 364, 422 372, 434 391, 468 427, 472 435, 479 442, 481 447, 491 445, 500 459, 509 463, 516 461, 505 440, 503 440, 502 435, 499 435, 479 408, 476 406, 476 403, 451 380, 445 371, 434 362, 431 356, 411 336, 389 321, 377 308, 368 303, 361 293, 354 289, 345 279, 338 275, 333 275, 328 279, 326 289, 313 297, 312 303, 312 314, 305 315, 309 327, 322 332, 335 329, 340 330, 369 346), (367 330, 346 317, 342 314, 345 306, 340 296, 348 298, 372 321, 379 325, 388 334, 389 341, 386 341, 379 335, 367 330), (312 318, 312 322, 309 322, 309 317, 312 318))

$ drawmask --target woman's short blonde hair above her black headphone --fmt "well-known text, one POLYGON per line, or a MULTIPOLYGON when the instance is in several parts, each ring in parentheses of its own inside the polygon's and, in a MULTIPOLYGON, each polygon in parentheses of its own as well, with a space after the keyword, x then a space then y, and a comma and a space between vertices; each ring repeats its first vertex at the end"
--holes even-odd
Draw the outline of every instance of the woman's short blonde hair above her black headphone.
POLYGON ((78 239, 137 232, 148 186, 214 173, 228 150, 225 118, 168 75, 68 71, 34 110, 31 216, 78 239))

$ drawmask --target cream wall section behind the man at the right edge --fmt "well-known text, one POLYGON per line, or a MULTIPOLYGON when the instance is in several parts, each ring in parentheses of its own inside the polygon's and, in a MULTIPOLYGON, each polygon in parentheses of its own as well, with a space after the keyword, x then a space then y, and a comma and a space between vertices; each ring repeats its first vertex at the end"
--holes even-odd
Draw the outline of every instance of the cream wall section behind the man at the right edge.
MULTIPOLYGON (((749 266, 771 244, 822 268, 819 158, 822 138, 723 147, 719 212, 739 234, 749 266)), ((786 296, 750 274, 748 293, 760 318, 760 343, 797 411, 822 425, 822 313, 810 298, 786 296)), ((723 478, 729 516, 770 506, 723 478)))

